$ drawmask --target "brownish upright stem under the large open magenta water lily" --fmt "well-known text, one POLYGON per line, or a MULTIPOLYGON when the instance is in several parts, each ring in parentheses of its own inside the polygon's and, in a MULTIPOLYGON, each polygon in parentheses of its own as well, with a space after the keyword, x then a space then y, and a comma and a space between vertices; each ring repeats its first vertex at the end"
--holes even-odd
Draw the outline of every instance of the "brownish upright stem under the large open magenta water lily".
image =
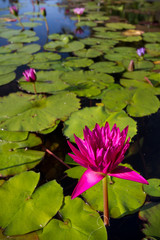
POLYGON ((107 176, 103 178, 103 203, 104 203, 104 225, 109 226, 109 209, 108 209, 108 185, 107 176))

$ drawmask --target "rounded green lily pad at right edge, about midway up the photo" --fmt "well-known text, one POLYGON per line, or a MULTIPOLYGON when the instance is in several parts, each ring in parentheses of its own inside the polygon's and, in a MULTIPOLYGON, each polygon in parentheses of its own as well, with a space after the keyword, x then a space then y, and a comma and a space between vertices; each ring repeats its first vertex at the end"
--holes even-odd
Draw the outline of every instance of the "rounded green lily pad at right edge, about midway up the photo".
POLYGON ((127 112, 133 117, 143 117, 155 113, 160 107, 158 98, 149 89, 138 89, 133 95, 127 112))

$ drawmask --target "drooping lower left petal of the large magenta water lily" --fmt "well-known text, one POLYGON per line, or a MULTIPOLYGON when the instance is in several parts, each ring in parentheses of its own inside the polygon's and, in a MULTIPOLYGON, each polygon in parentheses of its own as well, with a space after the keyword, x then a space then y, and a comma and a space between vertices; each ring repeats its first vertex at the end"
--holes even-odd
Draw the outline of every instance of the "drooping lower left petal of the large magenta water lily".
POLYGON ((96 183, 100 182, 104 177, 105 175, 101 173, 94 172, 91 169, 87 169, 83 173, 78 184, 76 185, 72 193, 71 199, 76 198, 77 196, 85 192, 87 189, 93 187, 96 183))

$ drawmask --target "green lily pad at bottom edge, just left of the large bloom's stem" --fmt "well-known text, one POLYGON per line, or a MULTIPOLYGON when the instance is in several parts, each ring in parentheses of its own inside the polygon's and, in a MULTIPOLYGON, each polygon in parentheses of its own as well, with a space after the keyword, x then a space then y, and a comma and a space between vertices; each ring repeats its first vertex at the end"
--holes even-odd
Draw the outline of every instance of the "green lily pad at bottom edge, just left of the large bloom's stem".
POLYGON ((39 234, 40 240, 52 240, 53 236, 56 239, 107 240, 106 228, 99 214, 82 199, 66 197, 60 214, 63 221, 50 221, 39 234))

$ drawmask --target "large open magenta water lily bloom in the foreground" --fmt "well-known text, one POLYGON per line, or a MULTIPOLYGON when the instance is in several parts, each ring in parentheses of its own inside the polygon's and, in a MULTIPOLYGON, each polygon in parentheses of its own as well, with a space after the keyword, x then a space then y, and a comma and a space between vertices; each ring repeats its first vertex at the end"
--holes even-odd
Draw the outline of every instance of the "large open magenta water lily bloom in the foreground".
POLYGON ((69 153, 69 155, 75 162, 87 168, 72 193, 72 199, 97 184, 106 175, 148 184, 137 172, 118 166, 129 147, 130 138, 126 141, 127 133, 128 126, 120 132, 116 124, 112 130, 108 123, 104 127, 96 124, 92 131, 85 127, 84 140, 74 135, 79 150, 68 141, 75 154, 69 153))

